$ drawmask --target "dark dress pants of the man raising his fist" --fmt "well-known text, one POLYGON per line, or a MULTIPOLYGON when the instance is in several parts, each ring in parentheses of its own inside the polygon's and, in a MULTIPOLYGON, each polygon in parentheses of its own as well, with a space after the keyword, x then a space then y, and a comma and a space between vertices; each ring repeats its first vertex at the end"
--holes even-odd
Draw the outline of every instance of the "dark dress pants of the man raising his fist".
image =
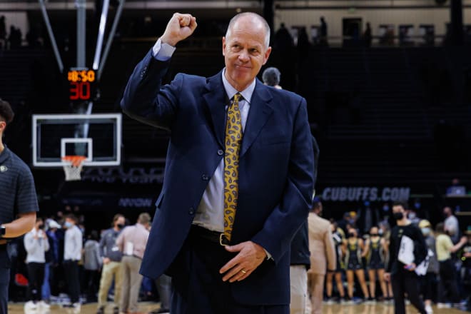
MULTIPOLYGON (((218 243, 188 236, 171 266, 171 314, 288 314, 289 305, 242 305, 219 269, 236 254, 218 243)), ((266 262, 264 262, 266 263, 266 262)))

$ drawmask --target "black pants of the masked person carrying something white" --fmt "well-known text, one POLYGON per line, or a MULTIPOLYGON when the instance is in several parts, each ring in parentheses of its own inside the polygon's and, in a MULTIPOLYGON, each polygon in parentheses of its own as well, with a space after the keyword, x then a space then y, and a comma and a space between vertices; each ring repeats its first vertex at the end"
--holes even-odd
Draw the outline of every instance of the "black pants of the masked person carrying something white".
POLYGON ((398 270, 397 273, 391 275, 391 285, 393 285, 395 314, 405 314, 405 293, 407 293, 410 303, 412 303, 420 313, 427 313, 425 312, 424 303, 420 298, 419 278, 415 272, 398 270))

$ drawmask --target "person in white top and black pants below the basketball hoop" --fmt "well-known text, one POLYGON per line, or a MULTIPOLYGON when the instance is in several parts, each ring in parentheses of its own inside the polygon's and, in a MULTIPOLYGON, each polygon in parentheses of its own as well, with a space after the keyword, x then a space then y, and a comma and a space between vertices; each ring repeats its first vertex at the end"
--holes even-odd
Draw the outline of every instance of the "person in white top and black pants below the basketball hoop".
POLYGON ((78 275, 78 262, 82 257, 83 235, 76 226, 77 218, 69 213, 66 216, 64 228, 67 229, 64 238, 64 273, 69 290, 71 302, 64 308, 74 308, 80 312, 80 276, 78 275))

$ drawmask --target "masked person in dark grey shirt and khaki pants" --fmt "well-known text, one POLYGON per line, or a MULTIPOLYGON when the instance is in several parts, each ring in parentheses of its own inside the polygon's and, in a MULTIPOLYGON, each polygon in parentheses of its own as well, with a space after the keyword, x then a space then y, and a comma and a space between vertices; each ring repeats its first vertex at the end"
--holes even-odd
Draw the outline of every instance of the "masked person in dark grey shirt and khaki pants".
POLYGON ((113 217, 113 225, 111 228, 101 233, 100 255, 103 258, 103 269, 101 270, 100 290, 98 291, 98 310, 97 314, 105 312, 106 300, 108 298, 108 290, 114 280, 114 302, 113 314, 119 312, 119 302, 121 300, 121 259, 123 253, 116 245, 116 239, 124 228, 125 218, 121 213, 117 213, 113 217))

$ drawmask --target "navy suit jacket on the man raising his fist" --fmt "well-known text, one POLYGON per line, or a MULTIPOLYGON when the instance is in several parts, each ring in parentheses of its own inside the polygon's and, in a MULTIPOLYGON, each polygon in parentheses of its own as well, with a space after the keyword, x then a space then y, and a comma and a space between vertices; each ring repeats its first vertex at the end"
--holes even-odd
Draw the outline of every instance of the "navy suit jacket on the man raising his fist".
MULTIPOLYGON (((149 51, 121 101, 128 116, 171 131, 163 188, 141 265, 141 274, 149 278, 178 275, 172 264, 224 151, 228 100, 221 72, 211 78, 177 74, 162 86, 168 65, 149 51)), ((257 80, 240 150, 231 243, 252 240, 273 260, 231 284, 238 302, 289 303, 290 243, 312 202, 313 162, 305 99, 257 80)))

